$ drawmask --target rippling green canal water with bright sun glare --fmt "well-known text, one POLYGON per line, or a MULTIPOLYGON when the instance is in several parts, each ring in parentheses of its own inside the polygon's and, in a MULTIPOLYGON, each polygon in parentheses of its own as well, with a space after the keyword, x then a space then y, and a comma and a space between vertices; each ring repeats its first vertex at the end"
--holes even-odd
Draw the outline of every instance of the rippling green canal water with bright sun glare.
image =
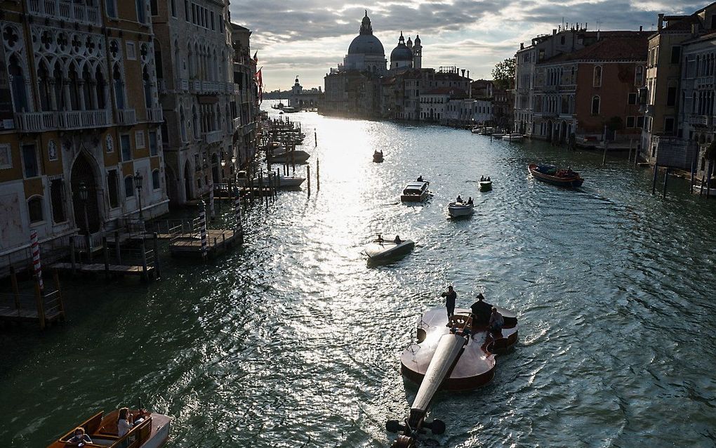
POLYGON ((4 446, 44 447, 140 401, 173 417, 172 448, 390 446, 385 421, 415 396, 400 353, 448 285, 459 305, 483 292, 514 310, 520 342, 488 386, 437 397, 448 429, 422 446, 714 446, 716 201, 679 179, 652 196, 652 171, 626 154, 602 166, 465 130, 289 116, 308 134, 311 196, 248 210, 243 249, 165 257, 148 285, 65 280, 67 323, 0 330, 4 446), (584 186, 538 183, 532 161, 584 186), (418 175, 434 196, 400 204, 418 175), (458 194, 475 199, 471 219, 448 219, 458 194), (370 267, 377 232, 415 251, 370 267))

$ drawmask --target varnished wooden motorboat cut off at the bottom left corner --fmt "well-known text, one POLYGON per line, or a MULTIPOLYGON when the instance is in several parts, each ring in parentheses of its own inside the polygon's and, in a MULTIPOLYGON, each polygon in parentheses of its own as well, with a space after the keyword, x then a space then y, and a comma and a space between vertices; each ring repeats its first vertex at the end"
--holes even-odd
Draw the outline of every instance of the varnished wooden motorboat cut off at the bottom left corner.
MULTIPOLYGON (((104 411, 100 411, 77 425, 82 426, 84 433, 92 439, 92 443, 84 444, 84 447, 158 448, 167 442, 171 424, 170 417, 136 409, 130 412, 136 416, 134 427, 121 438, 117 432, 119 409, 106 415, 104 411)), ((67 443, 69 439, 74 437, 74 429, 72 428, 67 434, 49 444, 47 448, 76 447, 76 444, 67 443)))

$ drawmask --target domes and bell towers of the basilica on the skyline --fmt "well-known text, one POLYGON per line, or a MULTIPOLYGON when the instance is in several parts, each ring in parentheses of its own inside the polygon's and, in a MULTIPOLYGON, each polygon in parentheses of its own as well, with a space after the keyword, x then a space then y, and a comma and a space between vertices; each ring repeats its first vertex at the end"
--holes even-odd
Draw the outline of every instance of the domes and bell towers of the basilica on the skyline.
MULTIPOLYGON (((395 49, 390 53, 390 71, 405 68, 421 68, 422 46, 420 37, 415 37, 415 44, 408 37, 407 42, 400 32, 400 38, 395 49)), ((358 70, 372 72, 377 75, 386 74, 385 50, 380 40, 373 35, 373 27, 368 17, 368 11, 360 25, 359 34, 348 47, 348 54, 343 59, 339 70, 358 70)))

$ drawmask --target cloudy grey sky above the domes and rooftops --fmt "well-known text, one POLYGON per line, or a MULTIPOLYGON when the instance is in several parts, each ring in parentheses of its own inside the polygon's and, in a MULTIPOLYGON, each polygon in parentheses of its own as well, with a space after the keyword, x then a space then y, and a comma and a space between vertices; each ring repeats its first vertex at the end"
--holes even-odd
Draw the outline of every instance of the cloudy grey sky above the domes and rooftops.
MULTIPOLYGON (((551 33, 562 22, 588 29, 654 29, 657 14, 691 14, 708 3, 691 0, 231 0, 231 20, 253 31, 266 90, 323 85, 357 36, 364 9, 390 59, 400 31, 422 40, 422 66, 456 65, 470 77, 511 57, 520 42, 551 33)), ((570 25, 571 26, 571 25, 570 25)))

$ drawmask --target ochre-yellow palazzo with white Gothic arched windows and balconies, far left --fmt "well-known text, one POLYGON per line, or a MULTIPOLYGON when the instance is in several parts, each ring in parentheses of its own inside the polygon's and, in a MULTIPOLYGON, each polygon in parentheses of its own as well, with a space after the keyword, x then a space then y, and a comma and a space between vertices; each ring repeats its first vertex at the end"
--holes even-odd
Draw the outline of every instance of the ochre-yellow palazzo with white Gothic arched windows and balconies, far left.
POLYGON ((0 257, 165 213, 150 2, 1 3, 0 257))

